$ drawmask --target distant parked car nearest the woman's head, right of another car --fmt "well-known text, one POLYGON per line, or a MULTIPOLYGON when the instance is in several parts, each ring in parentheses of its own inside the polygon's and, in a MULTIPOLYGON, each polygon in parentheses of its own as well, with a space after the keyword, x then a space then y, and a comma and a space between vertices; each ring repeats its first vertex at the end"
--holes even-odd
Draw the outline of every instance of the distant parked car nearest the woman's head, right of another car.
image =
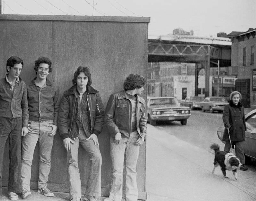
POLYGON ((210 112, 223 112, 224 106, 228 104, 225 97, 210 96, 204 98, 204 101, 199 102, 202 111, 209 110, 210 112))

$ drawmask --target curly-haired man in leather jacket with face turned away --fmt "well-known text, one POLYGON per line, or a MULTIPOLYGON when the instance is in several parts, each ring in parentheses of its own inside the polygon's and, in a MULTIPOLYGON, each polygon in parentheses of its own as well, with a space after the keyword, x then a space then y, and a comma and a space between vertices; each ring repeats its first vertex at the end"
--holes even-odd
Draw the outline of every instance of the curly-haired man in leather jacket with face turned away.
POLYGON ((109 97, 104 123, 111 135, 112 183, 109 197, 104 201, 121 201, 124 162, 125 200, 138 199, 136 164, 147 132, 145 100, 140 97, 144 85, 142 76, 130 74, 124 81, 124 90, 109 97))

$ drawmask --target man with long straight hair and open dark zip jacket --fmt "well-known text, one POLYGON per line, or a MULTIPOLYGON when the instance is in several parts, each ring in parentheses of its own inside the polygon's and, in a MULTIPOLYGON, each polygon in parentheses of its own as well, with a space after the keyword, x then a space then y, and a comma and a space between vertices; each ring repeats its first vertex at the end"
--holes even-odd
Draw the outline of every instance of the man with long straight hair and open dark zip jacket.
POLYGON ((102 163, 97 136, 102 129, 104 106, 99 91, 91 87, 88 67, 79 66, 72 81, 74 85, 64 92, 58 115, 60 137, 67 151, 69 199, 80 201, 82 198, 77 159, 81 144, 90 157, 90 172, 83 200, 96 201, 101 190, 102 163))

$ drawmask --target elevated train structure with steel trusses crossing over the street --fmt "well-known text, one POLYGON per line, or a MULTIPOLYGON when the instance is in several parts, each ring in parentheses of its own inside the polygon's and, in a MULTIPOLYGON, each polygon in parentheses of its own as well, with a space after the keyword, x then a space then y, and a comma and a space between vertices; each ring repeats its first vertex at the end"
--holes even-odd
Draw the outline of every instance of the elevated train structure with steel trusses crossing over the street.
POLYGON ((148 37, 148 62, 196 63, 195 95, 198 88, 198 72, 205 69, 205 96, 209 96, 210 67, 231 66, 229 38, 199 37, 191 35, 166 35, 148 37))

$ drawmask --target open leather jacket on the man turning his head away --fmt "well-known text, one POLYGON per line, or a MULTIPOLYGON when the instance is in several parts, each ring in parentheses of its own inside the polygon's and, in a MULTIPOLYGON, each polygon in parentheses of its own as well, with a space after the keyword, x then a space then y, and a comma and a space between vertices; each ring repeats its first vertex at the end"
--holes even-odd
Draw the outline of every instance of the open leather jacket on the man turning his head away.
MULTIPOLYGON (((104 124, 111 136, 122 133, 129 137, 132 130, 132 104, 125 91, 111 94, 105 111, 104 124)), ((147 119, 145 100, 137 96, 136 128, 141 137, 146 138, 147 119)))

